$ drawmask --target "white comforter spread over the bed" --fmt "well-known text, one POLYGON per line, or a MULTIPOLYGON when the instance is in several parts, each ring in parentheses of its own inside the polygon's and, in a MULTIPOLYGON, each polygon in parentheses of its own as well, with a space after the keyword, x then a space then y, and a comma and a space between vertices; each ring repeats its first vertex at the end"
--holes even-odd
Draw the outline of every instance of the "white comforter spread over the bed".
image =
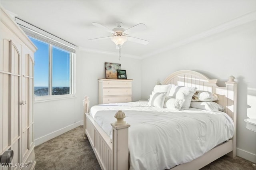
POLYGON ((146 102, 96 105, 90 114, 112 138, 118 110, 129 123, 130 170, 164 170, 190 162, 232 138, 234 123, 223 112, 171 111, 146 102))

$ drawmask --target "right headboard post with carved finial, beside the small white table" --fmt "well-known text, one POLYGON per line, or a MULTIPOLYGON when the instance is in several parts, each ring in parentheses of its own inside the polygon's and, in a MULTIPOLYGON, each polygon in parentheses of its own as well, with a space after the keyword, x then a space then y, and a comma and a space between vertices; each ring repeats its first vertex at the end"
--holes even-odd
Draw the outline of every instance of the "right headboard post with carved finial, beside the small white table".
POLYGON ((233 140, 233 151, 230 152, 228 155, 232 156, 233 158, 236 157, 236 81, 234 81, 235 77, 230 76, 229 80, 226 82, 226 88, 228 91, 227 94, 227 114, 233 119, 235 131, 234 136, 232 138, 233 140))

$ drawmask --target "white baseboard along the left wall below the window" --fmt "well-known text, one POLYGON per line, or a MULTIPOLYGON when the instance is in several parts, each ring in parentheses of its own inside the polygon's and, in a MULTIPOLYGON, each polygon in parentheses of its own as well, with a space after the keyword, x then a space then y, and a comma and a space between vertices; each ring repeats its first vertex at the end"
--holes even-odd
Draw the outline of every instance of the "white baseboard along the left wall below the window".
POLYGON ((55 138, 55 137, 65 133, 65 132, 68 132, 69 130, 72 130, 73 128, 79 127, 81 125, 84 125, 84 121, 76 122, 76 123, 74 123, 72 125, 68 125, 68 126, 66 126, 64 128, 61 128, 59 130, 56 130, 56 131, 51 132, 49 134, 46 134, 46 135, 44 135, 44 136, 42 136, 40 138, 37 138, 37 139, 35 139, 35 146, 38 146, 38 145, 40 145, 40 144, 42 144, 42 143, 44 143, 44 142, 46 142, 46 141, 48 141, 48 140, 50 140, 52 138, 55 138))

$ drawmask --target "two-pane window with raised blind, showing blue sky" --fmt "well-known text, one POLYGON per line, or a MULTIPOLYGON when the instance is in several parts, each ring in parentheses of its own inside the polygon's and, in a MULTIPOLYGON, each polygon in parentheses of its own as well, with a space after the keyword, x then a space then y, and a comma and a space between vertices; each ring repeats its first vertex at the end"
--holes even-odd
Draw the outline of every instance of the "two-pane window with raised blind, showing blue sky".
POLYGON ((38 48, 34 53, 35 100, 72 97, 74 94, 74 45, 68 44, 72 46, 70 47, 66 45, 68 42, 63 43, 64 40, 18 18, 16 22, 38 48))

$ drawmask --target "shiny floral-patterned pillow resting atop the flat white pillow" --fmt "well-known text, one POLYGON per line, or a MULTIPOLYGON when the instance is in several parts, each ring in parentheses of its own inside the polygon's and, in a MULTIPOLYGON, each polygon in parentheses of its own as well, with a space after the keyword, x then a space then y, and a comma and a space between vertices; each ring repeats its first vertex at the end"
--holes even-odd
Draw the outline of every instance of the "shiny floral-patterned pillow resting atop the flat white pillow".
POLYGON ((217 101, 219 100, 218 96, 210 91, 196 91, 193 95, 191 101, 217 101))

